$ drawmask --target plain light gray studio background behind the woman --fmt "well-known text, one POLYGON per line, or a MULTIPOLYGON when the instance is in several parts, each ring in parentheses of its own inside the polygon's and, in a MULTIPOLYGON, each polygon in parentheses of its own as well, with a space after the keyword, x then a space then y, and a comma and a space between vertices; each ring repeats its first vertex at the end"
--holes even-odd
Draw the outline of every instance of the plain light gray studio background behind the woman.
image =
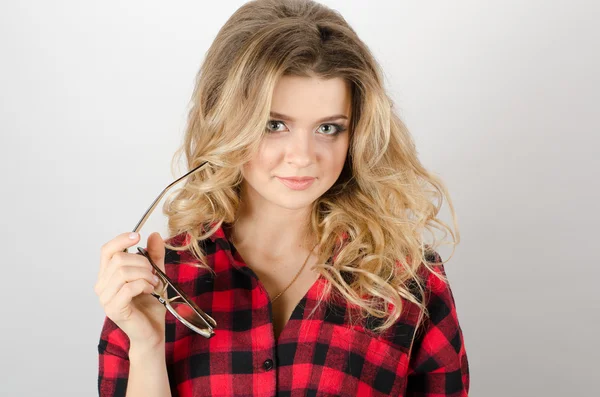
MULTIPOLYGON (((1 395, 96 394, 100 246, 176 176, 195 73, 242 3, 2 1, 1 395)), ((599 3, 324 3, 454 199, 471 395, 598 395, 599 3)))

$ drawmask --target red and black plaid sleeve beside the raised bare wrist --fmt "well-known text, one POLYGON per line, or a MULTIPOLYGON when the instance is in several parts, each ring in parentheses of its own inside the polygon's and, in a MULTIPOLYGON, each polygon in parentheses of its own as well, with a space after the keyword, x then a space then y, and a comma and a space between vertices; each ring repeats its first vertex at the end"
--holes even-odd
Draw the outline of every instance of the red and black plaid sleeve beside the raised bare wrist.
POLYGON ((125 396, 129 377, 129 337, 105 317, 98 343, 98 395, 125 396))

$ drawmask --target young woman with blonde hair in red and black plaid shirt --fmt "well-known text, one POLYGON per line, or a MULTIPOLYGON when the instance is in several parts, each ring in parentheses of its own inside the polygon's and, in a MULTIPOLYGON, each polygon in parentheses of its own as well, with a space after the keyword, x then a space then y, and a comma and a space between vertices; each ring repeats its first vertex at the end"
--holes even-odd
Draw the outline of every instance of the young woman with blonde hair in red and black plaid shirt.
POLYGON ((457 244, 437 218, 444 197, 454 209, 347 22, 313 1, 245 4, 192 102, 169 238, 101 250, 100 395, 466 396, 423 236, 457 244))

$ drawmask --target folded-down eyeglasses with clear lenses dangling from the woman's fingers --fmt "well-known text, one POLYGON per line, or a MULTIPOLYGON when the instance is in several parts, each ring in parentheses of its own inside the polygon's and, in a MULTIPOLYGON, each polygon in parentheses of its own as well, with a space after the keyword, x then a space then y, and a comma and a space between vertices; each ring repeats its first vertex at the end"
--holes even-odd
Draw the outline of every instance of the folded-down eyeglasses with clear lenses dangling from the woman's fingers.
MULTIPOLYGON (((154 211, 156 205, 160 202, 165 193, 171 187, 173 187, 173 185, 177 184, 179 181, 192 174, 193 172, 198 171, 206 163, 206 161, 203 162, 202 164, 192 169, 187 174, 173 181, 169 186, 164 188, 160 195, 146 210, 146 212, 142 216, 142 219, 140 219, 140 221, 133 229, 133 232, 137 233, 142 228, 142 226, 144 226, 144 223, 146 223, 146 220, 148 219, 152 211, 154 211)), ((169 310, 169 312, 171 312, 171 314, 176 319, 181 321, 185 326, 204 336, 205 338, 213 337, 215 335, 213 329, 216 328, 217 322, 208 314, 204 313, 202 309, 200 309, 198 305, 194 303, 194 301, 192 301, 185 293, 183 293, 183 291, 177 288, 175 283, 171 281, 171 279, 169 279, 167 275, 162 270, 160 270, 160 268, 152 261, 150 255, 148 254, 148 251, 141 247, 137 247, 137 250, 138 255, 143 255, 148 259, 148 261, 154 268, 156 275, 160 279, 159 285, 154 288, 154 291, 152 291, 152 296, 158 299, 159 302, 162 303, 167 308, 167 310, 169 310), (172 294, 172 298, 168 297, 169 287, 175 292, 175 294, 172 294)), ((128 252, 128 249, 126 248, 125 250, 123 250, 123 252, 128 252)))

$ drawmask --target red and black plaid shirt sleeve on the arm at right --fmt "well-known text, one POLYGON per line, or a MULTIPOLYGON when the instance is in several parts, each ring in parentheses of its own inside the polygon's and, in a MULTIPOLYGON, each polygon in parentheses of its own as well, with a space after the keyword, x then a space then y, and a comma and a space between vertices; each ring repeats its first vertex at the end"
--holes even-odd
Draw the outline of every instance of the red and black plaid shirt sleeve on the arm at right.
MULTIPOLYGON (((433 268, 446 276, 442 264, 433 268)), ((468 396, 469 364, 450 285, 430 273, 426 293, 429 317, 415 337, 406 397, 468 396)))

